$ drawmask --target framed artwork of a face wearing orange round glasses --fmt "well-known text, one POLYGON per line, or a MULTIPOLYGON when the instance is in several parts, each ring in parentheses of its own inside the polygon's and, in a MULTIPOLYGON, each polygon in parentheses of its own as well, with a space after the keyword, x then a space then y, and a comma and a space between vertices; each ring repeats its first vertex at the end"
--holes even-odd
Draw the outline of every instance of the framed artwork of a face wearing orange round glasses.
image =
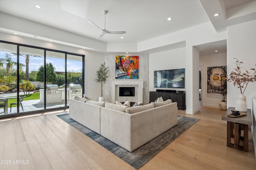
POLYGON ((207 94, 220 94, 220 90, 226 88, 227 66, 207 67, 207 94))

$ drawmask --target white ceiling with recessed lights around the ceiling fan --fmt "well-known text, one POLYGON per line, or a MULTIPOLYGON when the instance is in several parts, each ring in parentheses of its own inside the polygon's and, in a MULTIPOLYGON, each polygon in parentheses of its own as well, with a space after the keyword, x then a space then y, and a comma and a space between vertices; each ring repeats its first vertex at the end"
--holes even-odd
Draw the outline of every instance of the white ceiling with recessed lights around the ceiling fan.
POLYGON ((108 10, 106 29, 126 33, 106 34, 97 40, 138 43, 208 21, 217 32, 225 31, 238 22, 255 20, 256 0, 0 0, 0 12, 92 39, 101 32, 88 20, 104 28, 103 10, 108 10), (35 4, 42 8, 36 8, 35 4), (215 13, 220 16, 214 18, 215 13), (241 16, 243 20, 236 20, 241 16), (168 21, 168 17, 172 20, 168 21))

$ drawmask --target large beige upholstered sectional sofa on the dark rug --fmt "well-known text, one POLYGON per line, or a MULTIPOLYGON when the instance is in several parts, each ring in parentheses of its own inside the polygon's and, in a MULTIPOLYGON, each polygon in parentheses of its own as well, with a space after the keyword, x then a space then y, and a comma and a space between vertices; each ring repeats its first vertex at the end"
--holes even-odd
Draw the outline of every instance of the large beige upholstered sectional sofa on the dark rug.
POLYGON ((178 124, 176 102, 136 108, 96 104, 70 99, 70 118, 130 152, 178 124))

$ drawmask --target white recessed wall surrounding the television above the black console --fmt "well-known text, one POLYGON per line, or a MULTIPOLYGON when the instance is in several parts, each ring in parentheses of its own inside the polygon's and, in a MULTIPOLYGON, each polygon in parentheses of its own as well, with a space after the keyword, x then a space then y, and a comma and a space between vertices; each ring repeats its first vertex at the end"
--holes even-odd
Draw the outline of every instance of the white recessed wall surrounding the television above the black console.
POLYGON ((154 88, 154 71, 155 70, 171 70, 171 69, 179 69, 179 68, 185 68, 185 81, 186 81, 186 47, 150 54, 149 55, 149 91, 156 91, 156 89, 186 91, 186 84, 185 84, 185 88, 154 88))

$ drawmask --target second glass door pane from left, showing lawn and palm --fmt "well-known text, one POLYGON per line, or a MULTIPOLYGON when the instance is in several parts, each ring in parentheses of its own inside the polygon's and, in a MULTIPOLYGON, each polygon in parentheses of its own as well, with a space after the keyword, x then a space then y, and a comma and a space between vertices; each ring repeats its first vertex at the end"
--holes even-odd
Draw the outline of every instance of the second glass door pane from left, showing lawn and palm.
POLYGON ((41 102, 44 82, 39 80, 40 66, 44 65, 44 50, 20 46, 19 72, 20 113, 44 109, 41 102))

